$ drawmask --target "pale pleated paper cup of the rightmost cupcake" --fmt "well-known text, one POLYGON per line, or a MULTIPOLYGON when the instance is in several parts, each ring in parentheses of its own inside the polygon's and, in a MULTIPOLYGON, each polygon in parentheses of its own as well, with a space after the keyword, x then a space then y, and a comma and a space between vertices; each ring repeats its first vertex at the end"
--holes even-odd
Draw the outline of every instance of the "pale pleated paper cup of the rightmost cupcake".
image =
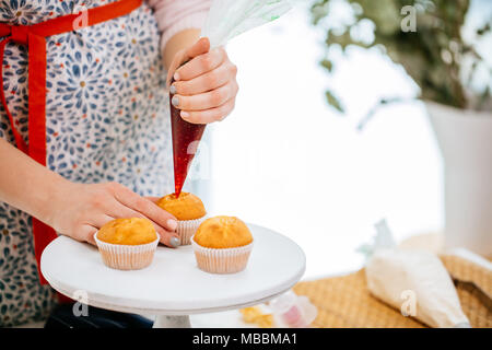
POLYGON ((191 237, 197 265, 200 270, 211 273, 236 273, 248 264, 254 242, 235 248, 206 248, 191 237))

